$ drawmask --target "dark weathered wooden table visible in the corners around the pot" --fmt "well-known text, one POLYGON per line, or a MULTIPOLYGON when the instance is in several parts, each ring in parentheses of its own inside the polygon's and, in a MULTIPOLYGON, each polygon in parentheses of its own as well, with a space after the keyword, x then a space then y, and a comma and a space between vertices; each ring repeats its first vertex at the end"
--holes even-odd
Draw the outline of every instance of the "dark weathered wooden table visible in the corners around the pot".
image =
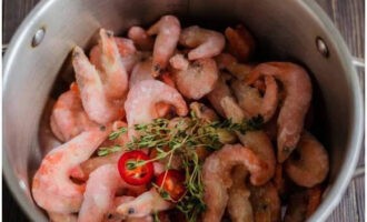
MULTIPOLYGON (((39 0, 3 0, 2 43, 7 44, 17 27, 39 0)), ((365 1, 364 0, 316 0, 329 14, 340 30, 353 56, 365 58, 365 1)), ((363 70, 360 80, 364 82, 363 70)), ((338 208, 327 221, 357 222, 365 221, 365 152, 360 154, 359 171, 350 182, 347 192, 338 208)), ((11 196, 4 180, 2 180, 2 219, 3 221, 29 221, 11 196)))

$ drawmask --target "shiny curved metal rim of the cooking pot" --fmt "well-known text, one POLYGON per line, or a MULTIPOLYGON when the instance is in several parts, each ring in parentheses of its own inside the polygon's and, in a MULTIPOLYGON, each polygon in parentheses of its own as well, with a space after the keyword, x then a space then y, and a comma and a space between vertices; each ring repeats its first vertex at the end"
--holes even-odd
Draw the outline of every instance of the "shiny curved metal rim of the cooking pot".
MULTIPOLYGON (((308 221, 325 221, 327 216, 334 211, 334 209, 340 202, 346 189, 351 180, 353 173, 356 169, 359 152, 361 149, 363 133, 364 133, 364 115, 363 115, 363 97, 361 90, 357 78, 357 72, 353 64, 353 58, 350 52, 343 40, 339 31, 336 29, 331 20, 325 13, 325 11, 314 1, 302 1, 298 0, 300 4, 308 10, 309 14, 314 17, 316 21, 318 21, 323 28, 329 33, 331 40, 337 42, 336 46, 336 54, 341 58, 340 62, 345 69, 346 73, 350 74, 350 84, 353 87, 353 123, 354 127, 350 130, 351 138, 348 141, 348 152, 344 160, 341 170, 333 184, 333 188, 328 191, 327 195, 323 200, 321 204, 318 206, 317 211, 309 218, 308 221)), ((27 39, 28 34, 31 34, 31 30, 34 30, 36 21, 42 17, 42 14, 52 7, 53 1, 41 0, 26 17, 26 19, 21 22, 16 33, 13 34, 9 48, 4 53, 3 58, 3 82, 2 82, 2 98, 7 94, 7 82, 8 77, 10 75, 10 69, 13 65, 16 52, 19 50, 21 42, 27 39), (19 39, 21 41, 19 41, 19 39)), ((6 129, 4 129, 6 130, 6 129)), ((7 144, 7 139, 3 137, 2 145, 7 144)), ((16 196, 17 202, 21 205, 22 210, 27 213, 27 215, 34 221, 46 221, 44 215, 39 211, 36 204, 31 204, 29 199, 23 194, 23 190, 19 185, 19 180, 17 179, 12 167, 9 164, 7 152, 3 149, 2 153, 3 161, 3 173, 8 186, 13 196, 16 196)))

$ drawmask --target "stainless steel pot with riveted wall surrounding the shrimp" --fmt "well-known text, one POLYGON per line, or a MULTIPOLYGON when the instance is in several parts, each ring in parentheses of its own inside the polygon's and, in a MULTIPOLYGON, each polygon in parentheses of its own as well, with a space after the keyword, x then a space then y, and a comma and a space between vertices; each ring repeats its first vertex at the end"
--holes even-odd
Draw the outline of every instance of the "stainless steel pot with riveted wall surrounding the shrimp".
POLYGON ((309 221, 324 221, 340 201, 359 157, 363 100, 351 57, 339 32, 311 0, 43 0, 14 34, 3 63, 3 172, 32 221, 47 221, 30 195, 41 160, 40 117, 73 46, 86 47, 100 27, 123 33, 173 13, 209 24, 242 22, 278 59, 301 62, 325 101, 328 190, 309 221))

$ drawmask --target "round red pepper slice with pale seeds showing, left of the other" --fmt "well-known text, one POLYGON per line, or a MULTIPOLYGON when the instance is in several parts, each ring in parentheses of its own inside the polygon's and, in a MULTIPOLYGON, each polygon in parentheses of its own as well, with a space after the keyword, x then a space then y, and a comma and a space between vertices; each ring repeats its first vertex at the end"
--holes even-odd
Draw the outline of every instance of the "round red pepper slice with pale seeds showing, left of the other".
POLYGON ((131 185, 143 185, 151 181, 153 176, 153 164, 142 162, 149 157, 142 151, 130 151, 121 155, 118 169, 121 178, 131 185))

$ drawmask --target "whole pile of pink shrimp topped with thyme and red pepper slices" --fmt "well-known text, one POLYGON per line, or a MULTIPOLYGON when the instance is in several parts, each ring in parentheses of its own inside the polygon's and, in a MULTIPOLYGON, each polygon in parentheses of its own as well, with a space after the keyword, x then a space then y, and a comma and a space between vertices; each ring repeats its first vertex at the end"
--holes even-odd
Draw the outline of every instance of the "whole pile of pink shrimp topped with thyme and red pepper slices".
POLYGON ((242 24, 221 32, 168 14, 98 34, 89 53, 72 49, 73 81, 40 124, 31 191, 51 221, 298 222, 316 211, 329 157, 305 124, 305 68, 260 62, 242 24))

